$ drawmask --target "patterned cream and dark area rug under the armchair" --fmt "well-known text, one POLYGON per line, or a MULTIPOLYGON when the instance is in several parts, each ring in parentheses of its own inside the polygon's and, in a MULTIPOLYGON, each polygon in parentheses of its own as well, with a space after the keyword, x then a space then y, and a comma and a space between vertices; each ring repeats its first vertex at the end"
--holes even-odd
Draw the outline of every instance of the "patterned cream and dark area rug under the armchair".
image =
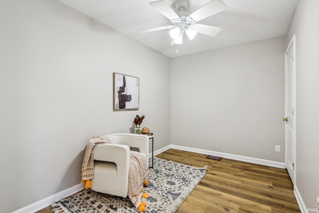
MULTIPOLYGON (((152 159, 150 159, 152 161, 152 159)), ((154 157, 150 169, 149 193, 145 213, 174 213, 206 174, 205 168, 154 157)), ((129 198, 106 195, 92 190, 81 191, 53 204, 55 213, 139 213, 129 198), (64 211, 64 212, 62 212, 64 211)))

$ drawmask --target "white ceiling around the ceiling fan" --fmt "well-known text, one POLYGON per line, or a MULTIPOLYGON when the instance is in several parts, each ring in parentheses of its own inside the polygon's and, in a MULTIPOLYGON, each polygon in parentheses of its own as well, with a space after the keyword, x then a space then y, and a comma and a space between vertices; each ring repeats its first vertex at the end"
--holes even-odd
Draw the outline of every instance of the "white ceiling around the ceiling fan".
MULTIPOLYGON (((210 37, 197 34, 193 40, 170 45, 169 30, 141 34, 138 31, 165 25, 170 20, 149 5, 156 0, 58 0, 168 57, 219 49, 285 35, 298 0, 223 0, 227 9, 198 23, 221 27, 210 37), (178 48, 178 53, 176 49, 178 48)), ((165 0, 175 11, 176 0, 165 0)), ((210 0, 188 0, 193 12, 210 0)))

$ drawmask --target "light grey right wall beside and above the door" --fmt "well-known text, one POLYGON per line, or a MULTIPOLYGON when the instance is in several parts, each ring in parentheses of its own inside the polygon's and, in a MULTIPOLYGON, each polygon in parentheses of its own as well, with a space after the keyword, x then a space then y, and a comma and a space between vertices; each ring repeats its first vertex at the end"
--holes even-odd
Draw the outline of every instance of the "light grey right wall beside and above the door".
POLYGON ((296 34, 296 171, 306 208, 319 197, 319 1, 299 0, 287 33, 296 34))

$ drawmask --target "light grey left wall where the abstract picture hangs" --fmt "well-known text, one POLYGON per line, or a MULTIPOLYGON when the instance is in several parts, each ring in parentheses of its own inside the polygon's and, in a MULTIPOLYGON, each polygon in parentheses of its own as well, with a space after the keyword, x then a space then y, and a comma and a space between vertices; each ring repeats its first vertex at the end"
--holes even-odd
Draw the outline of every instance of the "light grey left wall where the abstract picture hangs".
POLYGON ((136 114, 170 144, 169 58, 55 0, 1 0, 0 26, 1 212, 79 184, 88 140, 136 114), (113 112, 113 72, 140 77, 139 111, 113 112))

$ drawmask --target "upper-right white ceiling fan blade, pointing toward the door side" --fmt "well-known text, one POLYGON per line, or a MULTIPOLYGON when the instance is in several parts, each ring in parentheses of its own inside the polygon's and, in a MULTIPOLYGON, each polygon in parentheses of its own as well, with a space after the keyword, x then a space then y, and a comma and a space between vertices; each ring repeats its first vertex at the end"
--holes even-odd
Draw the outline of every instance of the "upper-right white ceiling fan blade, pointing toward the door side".
POLYGON ((227 5, 222 0, 212 0, 188 15, 187 18, 190 17, 193 21, 197 22, 218 12, 221 12, 226 8, 227 5))

